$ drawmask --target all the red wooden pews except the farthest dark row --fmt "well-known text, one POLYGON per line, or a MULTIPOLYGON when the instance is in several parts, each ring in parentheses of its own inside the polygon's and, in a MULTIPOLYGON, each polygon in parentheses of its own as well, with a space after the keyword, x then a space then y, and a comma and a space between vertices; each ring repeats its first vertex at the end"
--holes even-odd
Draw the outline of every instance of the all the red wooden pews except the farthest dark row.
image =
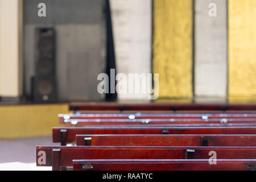
POLYGON ((37 146, 37 166, 53 170, 255 170, 253 112, 76 113, 59 118, 65 126, 76 127, 53 128, 53 142, 61 146, 37 146), (214 160, 210 159, 213 152, 214 160))

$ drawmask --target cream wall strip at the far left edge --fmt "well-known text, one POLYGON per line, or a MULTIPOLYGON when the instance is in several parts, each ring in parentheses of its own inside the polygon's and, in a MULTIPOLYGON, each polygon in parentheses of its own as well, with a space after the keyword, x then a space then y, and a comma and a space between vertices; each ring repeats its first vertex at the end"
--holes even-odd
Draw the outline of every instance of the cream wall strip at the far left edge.
POLYGON ((0 0, 0 96, 22 94, 22 0, 0 0))

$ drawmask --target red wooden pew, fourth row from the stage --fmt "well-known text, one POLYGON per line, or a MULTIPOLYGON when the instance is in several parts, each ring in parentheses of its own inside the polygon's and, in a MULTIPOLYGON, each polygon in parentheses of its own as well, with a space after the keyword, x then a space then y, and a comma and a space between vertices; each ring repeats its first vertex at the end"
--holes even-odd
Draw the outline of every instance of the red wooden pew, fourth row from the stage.
POLYGON ((52 140, 66 143, 76 142, 76 135, 81 134, 256 134, 255 126, 222 127, 129 127, 129 126, 87 126, 53 127, 52 140))

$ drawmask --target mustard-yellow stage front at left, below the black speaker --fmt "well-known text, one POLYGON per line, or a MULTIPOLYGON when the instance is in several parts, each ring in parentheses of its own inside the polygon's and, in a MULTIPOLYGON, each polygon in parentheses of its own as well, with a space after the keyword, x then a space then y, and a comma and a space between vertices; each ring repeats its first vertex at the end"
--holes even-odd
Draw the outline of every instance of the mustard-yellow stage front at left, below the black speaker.
POLYGON ((51 135, 60 113, 71 113, 68 104, 1 105, 0 139, 51 135))

